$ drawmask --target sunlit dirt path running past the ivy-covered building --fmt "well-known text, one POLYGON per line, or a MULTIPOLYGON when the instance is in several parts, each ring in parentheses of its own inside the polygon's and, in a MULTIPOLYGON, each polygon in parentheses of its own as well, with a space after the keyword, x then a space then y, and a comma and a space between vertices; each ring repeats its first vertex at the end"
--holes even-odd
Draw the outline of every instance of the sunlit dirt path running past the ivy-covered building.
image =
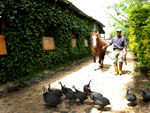
MULTIPOLYGON (((112 49, 108 48, 111 52, 112 49)), ((0 113, 99 113, 98 106, 91 106, 91 99, 87 99, 83 104, 78 102, 69 104, 69 101, 62 98, 62 103, 56 108, 47 107, 43 101, 42 86, 51 84, 52 88, 59 88, 61 81, 67 87, 75 85, 77 89, 83 90, 83 86, 92 80, 92 91, 100 92, 109 98, 111 105, 106 106, 104 113, 150 113, 150 103, 142 102, 139 88, 143 87, 142 81, 148 81, 146 77, 138 72, 134 72, 137 64, 133 53, 128 52, 128 64, 123 66, 123 75, 114 75, 112 60, 106 54, 104 67, 102 69, 93 68, 93 59, 64 69, 52 78, 41 81, 31 87, 11 93, 0 98, 0 113), (137 96, 137 105, 128 106, 125 99, 127 87, 137 96)), ((98 67, 98 63, 97 63, 98 67)), ((149 88, 149 87, 146 87, 149 88)))

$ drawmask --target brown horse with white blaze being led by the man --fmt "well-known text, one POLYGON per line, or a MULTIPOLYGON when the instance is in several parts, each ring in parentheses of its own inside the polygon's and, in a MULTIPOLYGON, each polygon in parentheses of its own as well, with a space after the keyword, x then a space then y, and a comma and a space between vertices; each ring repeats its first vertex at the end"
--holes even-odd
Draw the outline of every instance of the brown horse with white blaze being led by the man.
POLYGON ((103 61, 106 49, 105 46, 108 45, 105 40, 100 39, 99 33, 91 33, 91 50, 94 58, 94 63, 96 63, 96 55, 99 56, 99 67, 103 67, 103 61))

